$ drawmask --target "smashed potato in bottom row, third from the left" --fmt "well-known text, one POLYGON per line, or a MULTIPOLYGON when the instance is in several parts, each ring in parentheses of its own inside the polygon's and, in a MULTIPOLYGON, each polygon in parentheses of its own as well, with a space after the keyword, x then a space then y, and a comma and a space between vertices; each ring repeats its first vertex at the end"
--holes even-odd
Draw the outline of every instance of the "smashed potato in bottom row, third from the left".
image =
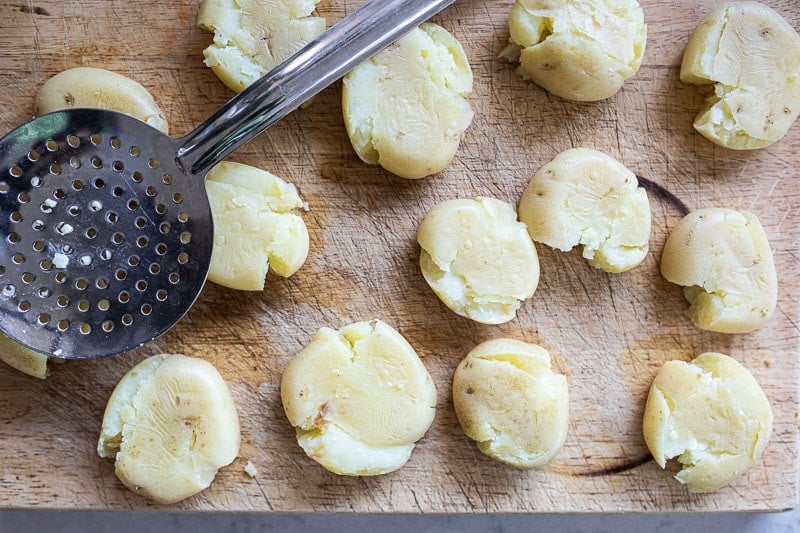
POLYGON ((544 466, 567 438, 567 378, 535 344, 498 338, 476 346, 456 368, 453 405, 480 451, 517 468, 544 466))

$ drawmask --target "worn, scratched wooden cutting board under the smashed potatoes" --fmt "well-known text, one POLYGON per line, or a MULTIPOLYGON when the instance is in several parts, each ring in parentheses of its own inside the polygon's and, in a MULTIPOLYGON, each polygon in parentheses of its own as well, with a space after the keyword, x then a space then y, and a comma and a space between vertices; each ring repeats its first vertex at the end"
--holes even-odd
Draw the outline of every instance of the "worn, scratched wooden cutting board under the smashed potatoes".
MULTIPOLYGON (((717 2, 642 0, 649 25, 644 64, 615 97, 556 98, 499 59, 510 0, 457 0, 435 20, 464 45, 475 74, 475 119, 453 164, 406 181, 363 164, 349 145, 339 84, 293 113, 234 160, 295 183, 309 204, 304 267, 270 277, 263 293, 208 284, 172 331, 135 353, 52 365, 44 381, 0 364, 0 506, 156 508, 126 490, 96 439, 106 400, 142 358, 180 352, 210 360, 230 384, 242 423, 239 458, 211 488, 171 509, 202 511, 605 512, 779 510, 798 494, 798 294, 800 124, 779 143, 734 152, 692 129, 702 97, 680 83, 679 64, 697 21, 717 2), (418 266, 415 235, 435 204, 493 196, 516 204, 529 178, 574 146, 603 150, 648 180, 651 254, 610 275, 577 252, 538 246, 541 282, 518 317, 484 326, 446 309, 418 266), (668 191, 669 194, 666 194, 668 191), (671 199, 674 195, 679 201, 671 199), (778 308, 748 335, 692 326, 681 289, 659 274, 669 230, 688 209, 755 212, 774 250, 778 308), (401 470, 339 477, 307 458, 283 414, 279 379, 321 326, 380 318, 415 347, 434 377, 436 419, 401 470), (509 336, 550 350, 570 386, 566 445, 543 470, 505 467, 461 432, 451 401, 453 371, 478 343, 509 336), (641 419, 650 382, 670 359, 727 353, 749 368, 775 414, 763 458, 742 478, 690 495, 650 459, 641 419), (244 472, 250 461, 258 469, 244 472)), ((770 0, 800 28, 797 0, 770 0)), ((38 87, 79 65, 103 67, 147 87, 183 135, 232 93, 202 64, 211 35, 195 28, 198 0, 0 2, 0 133, 33 114, 38 87)), ((322 0, 331 24, 360 2, 322 0)), ((644 181, 643 181, 644 183, 644 181)))

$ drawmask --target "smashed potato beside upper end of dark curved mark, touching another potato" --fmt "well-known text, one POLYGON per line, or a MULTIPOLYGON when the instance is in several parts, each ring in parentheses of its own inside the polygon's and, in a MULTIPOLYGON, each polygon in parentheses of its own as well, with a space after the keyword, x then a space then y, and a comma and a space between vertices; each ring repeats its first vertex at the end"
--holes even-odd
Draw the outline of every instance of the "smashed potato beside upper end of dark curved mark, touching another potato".
POLYGON ((650 249, 650 202, 636 175, 590 148, 561 152, 531 178, 519 203, 528 233, 567 252, 583 247, 589 264, 624 272, 650 249))

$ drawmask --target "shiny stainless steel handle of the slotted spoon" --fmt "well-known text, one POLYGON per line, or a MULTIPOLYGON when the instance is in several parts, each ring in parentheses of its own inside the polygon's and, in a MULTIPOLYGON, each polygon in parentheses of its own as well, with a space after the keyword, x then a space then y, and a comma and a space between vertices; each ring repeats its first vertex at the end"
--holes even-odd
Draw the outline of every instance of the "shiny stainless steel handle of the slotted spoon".
POLYGON ((454 0, 370 0, 180 139, 178 164, 204 174, 454 0))

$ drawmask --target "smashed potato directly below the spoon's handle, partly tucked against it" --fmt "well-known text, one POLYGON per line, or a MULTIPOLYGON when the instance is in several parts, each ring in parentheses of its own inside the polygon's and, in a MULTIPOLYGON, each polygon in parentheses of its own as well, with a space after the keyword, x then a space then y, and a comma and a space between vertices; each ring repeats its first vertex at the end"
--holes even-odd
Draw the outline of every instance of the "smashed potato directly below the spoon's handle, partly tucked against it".
POLYGON ((472 69, 458 40, 425 23, 344 77, 342 111, 358 156, 403 178, 444 170, 472 122, 472 69))

